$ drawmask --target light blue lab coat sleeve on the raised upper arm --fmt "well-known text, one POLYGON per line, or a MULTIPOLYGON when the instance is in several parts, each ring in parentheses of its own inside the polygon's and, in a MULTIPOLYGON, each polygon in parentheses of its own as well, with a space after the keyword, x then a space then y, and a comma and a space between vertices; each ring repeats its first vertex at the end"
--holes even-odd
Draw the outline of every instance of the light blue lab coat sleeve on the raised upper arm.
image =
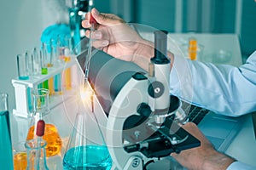
POLYGON ((226 116, 256 111, 256 51, 240 67, 175 56, 170 93, 226 116))

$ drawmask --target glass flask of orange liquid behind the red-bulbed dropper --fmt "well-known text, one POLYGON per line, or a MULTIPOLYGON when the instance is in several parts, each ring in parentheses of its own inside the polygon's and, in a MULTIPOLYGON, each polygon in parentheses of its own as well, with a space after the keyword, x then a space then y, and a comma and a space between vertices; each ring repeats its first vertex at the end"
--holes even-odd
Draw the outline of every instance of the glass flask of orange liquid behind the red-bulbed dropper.
POLYGON ((57 127, 53 123, 49 122, 49 90, 44 88, 38 88, 32 92, 33 99, 33 114, 28 130, 26 140, 36 138, 36 125, 38 120, 44 120, 45 130, 43 139, 47 142, 45 147, 46 156, 55 156, 61 151, 61 137, 58 133, 57 127))

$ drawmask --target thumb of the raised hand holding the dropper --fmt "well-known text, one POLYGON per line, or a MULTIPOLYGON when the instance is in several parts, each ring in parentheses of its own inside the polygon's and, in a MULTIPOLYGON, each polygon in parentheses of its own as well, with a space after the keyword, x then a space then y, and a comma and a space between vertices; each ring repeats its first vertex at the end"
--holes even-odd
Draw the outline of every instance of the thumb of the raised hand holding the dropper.
POLYGON ((119 18, 117 15, 103 14, 100 13, 96 8, 92 8, 90 14, 98 24, 103 26, 113 26, 116 24, 125 23, 125 21, 119 18))

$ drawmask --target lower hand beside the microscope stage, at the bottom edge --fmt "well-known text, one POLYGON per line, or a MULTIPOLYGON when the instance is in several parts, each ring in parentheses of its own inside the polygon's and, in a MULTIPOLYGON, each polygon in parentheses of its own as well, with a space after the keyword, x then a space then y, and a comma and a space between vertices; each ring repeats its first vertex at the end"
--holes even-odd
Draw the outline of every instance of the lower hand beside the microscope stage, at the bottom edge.
POLYGON ((215 150, 210 141, 194 123, 188 122, 183 128, 201 141, 201 146, 199 147, 183 150, 179 154, 171 154, 183 167, 197 170, 224 170, 235 161, 230 156, 226 156, 215 150))

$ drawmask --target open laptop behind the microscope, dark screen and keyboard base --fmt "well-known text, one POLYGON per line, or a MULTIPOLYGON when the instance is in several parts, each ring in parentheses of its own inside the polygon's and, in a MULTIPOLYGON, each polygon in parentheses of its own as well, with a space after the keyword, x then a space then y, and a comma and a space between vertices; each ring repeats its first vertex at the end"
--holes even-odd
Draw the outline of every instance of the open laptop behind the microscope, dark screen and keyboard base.
MULTIPOLYGON (((115 59, 96 48, 92 49, 92 54, 89 82, 96 91, 103 111, 108 116, 113 99, 120 89, 133 74, 143 72, 143 69, 131 62, 115 59), (114 77, 110 77, 110 75, 114 77)), ((87 51, 85 50, 77 56, 77 62, 83 72, 86 55, 87 51)), ((190 105, 184 101, 182 103, 183 111, 189 116, 189 122, 195 122, 217 150, 221 152, 227 150, 240 131, 244 117, 221 116, 199 106, 190 105)))

